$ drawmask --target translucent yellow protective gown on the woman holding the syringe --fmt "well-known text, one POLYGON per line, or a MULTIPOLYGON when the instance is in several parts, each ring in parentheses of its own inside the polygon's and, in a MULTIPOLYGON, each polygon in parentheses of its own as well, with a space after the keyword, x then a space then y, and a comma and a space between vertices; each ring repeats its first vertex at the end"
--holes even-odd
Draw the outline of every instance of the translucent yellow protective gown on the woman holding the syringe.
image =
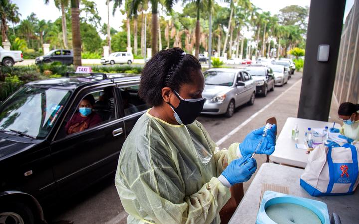
POLYGON ((198 121, 171 125, 142 115, 122 147, 115 176, 127 223, 219 224, 231 194, 217 177, 238 158, 237 147, 218 150, 198 121))

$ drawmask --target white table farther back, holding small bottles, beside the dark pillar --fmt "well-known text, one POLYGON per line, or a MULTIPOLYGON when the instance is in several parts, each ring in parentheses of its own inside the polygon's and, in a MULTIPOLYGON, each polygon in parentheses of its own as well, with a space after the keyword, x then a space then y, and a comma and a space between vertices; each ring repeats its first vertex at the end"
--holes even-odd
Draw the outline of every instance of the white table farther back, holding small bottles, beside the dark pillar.
MULTIPOLYGON (((324 129, 325 126, 332 128, 333 123, 288 117, 276 141, 275 150, 273 154, 269 156, 269 160, 276 163, 305 168, 309 155, 306 154, 305 149, 297 149, 295 144, 304 144, 304 133, 307 131, 308 127, 312 129, 324 129), (295 128, 296 124, 298 124, 299 129, 299 138, 297 141, 292 139, 292 129, 295 128)), ((336 123, 334 127, 340 128, 341 125, 336 123)))

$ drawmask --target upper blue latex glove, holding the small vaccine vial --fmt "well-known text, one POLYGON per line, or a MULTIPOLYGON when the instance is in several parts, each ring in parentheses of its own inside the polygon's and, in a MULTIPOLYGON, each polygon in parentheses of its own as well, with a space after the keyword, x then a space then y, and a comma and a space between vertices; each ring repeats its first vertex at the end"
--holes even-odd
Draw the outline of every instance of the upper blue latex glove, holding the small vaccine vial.
MULTIPOLYGON (((248 154, 252 154, 260 139, 263 137, 263 130, 264 127, 258 128, 252 132, 250 132, 244 141, 239 144, 239 150, 242 154, 242 156, 246 156, 248 154)), ((257 154, 267 154, 271 155, 274 152, 274 146, 275 146, 275 132, 277 130, 277 126, 273 125, 271 129, 267 130, 267 136, 264 137, 261 145, 258 148, 257 154)))

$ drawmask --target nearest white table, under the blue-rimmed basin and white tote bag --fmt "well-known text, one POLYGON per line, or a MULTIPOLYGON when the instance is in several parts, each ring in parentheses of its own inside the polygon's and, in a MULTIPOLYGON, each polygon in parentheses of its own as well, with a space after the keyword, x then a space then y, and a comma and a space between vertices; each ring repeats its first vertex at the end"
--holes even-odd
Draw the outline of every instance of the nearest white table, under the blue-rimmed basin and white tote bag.
POLYGON ((327 204, 329 214, 334 212, 340 216, 342 224, 359 224, 359 189, 353 195, 312 197, 299 184, 303 172, 299 168, 263 163, 229 224, 255 224, 262 183, 285 186, 290 195, 322 201, 327 204))

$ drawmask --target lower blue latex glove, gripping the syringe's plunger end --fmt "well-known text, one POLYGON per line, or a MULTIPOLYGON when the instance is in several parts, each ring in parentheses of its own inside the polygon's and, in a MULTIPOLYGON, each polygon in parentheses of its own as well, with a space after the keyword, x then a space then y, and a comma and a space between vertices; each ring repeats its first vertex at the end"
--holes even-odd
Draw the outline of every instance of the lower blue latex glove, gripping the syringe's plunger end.
POLYGON ((252 174, 257 169, 257 161, 247 155, 245 157, 233 160, 227 168, 222 172, 222 175, 233 184, 243 183, 249 180, 252 174))

